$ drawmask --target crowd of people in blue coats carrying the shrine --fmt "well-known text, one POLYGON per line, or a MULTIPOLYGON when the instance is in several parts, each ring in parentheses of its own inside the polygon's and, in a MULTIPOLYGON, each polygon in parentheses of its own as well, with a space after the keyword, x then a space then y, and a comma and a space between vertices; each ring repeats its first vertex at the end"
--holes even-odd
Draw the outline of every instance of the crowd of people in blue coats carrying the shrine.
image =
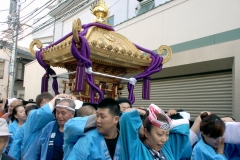
POLYGON ((127 98, 98 104, 45 92, 0 103, 0 160, 237 160, 240 122, 127 98))

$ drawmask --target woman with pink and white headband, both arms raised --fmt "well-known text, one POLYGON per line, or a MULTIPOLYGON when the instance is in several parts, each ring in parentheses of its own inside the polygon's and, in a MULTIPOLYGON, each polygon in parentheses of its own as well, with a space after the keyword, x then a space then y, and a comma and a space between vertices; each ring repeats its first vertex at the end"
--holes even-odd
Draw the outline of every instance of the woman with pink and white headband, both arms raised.
POLYGON ((121 159, 180 159, 189 141, 188 120, 171 120, 164 111, 151 104, 142 123, 138 111, 127 109, 120 119, 121 159), (144 134, 141 140, 140 130, 144 134))

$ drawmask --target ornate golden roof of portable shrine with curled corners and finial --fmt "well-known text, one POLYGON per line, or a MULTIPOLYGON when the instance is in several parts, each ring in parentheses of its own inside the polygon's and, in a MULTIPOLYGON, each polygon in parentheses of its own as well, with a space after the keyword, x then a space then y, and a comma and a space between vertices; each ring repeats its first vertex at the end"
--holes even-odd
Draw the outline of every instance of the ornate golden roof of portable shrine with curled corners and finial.
MULTIPOLYGON (((108 8, 103 0, 96 1, 92 5, 92 13, 96 16, 96 22, 106 23, 108 8)), ((72 38, 80 43, 78 33, 82 31, 80 19, 76 19, 72 24, 73 35, 67 37, 62 42, 42 51, 42 60, 54 67, 66 68, 75 71, 77 60, 71 54, 72 38)), ((90 47, 90 60, 93 62, 93 70, 106 73, 108 67, 115 68, 113 75, 126 74, 141 71, 148 67, 152 61, 148 54, 140 52, 135 45, 126 37, 114 31, 105 30, 96 26, 89 28, 86 36, 90 47), (119 71, 117 71, 119 69, 119 71), (122 73, 124 70, 124 73, 122 73)), ((36 56, 34 45, 42 47, 39 40, 33 40, 30 44, 30 52, 36 56)), ((80 47, 80 46, 78 46, 80 47)), ((158 53, 162 54, 167 50, 168 55, 163 60, 166 63, 171 58, 171 49, 168 46, 160 46, 158 53)), ((113 71, 112 71, 113 72, 113 71)))

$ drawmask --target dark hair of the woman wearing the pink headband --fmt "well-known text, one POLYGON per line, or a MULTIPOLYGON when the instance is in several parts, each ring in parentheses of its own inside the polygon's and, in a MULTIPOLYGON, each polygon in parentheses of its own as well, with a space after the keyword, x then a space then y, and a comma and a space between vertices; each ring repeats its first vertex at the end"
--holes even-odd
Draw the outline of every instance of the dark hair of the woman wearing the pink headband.
MULTIPOLYGON (((148 132, 150 132, 153 124, 149 121, 148 115, 149 115, 149 111, 147 111, 146 114, 143 117, 143 127, 146 128, 148 132)), ((165 122, 167 124, 169 123, 168 119, 165 115, 156 114, 156 116, 157 116, 157 120, 159 120, 161 122, 165 122)))

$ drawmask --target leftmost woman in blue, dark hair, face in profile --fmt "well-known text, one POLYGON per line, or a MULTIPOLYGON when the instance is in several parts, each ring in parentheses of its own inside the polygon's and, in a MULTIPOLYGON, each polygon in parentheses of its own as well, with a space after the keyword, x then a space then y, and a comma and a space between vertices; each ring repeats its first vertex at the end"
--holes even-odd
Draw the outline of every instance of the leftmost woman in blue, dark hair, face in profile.
POLYGON ((18 128, 20 128, 26 121, 27 116, 25 113, 25 108, 22 105, 15 106, 13 108, 11 121, 12 123, 8 126, 10 133, 12 134, 11 139, 8 144, 8 149, 11 147, 13 138, 18 128))

